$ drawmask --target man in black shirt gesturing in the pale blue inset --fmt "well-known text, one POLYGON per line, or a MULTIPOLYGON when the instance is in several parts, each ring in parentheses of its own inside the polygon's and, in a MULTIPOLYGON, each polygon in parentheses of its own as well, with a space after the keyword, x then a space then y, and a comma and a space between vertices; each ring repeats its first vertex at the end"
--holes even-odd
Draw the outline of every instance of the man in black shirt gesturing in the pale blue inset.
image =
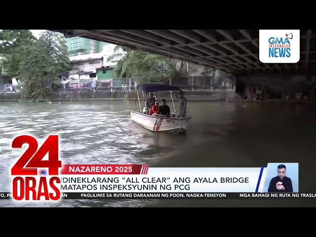
POLYGON ((280 164, 277 166, 277 176, 272 178, 270 181, 269 193, 292 193, 292 180, 289 177, 285 176, 286 174, 286 166, 284 164, 280 164))

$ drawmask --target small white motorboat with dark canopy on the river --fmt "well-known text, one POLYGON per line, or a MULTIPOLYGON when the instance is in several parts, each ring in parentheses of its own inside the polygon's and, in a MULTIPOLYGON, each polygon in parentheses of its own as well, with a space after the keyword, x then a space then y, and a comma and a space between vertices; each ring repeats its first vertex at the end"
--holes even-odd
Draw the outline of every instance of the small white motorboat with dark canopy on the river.
MULTIPOLYGON (((130 111, 132 121, 136 122, 140 126, 150 130, 150 131, 166 131, 166 132, 183 132, 187 129, 189 121, 191 119, 190 115, 186 115, 185 117, 180 117, 180 114, 177 113, 176 107, 177 104, 174 104, 172 92, 180 92, 180 89, 177 86, 166 85, 166 84, 140 84, 137 85, 137 98, 139 104, 139 112, 135 110, 130 111), (140 91, 142 91, 142 102, 140 101, 140 91), (172 100, 174 113, 171 112, 169 116, 162 115, 147 115, 142 113, 142 109, 144 108, 143 104, 145 104, 146 95, 149 92, 153 92, 155 98, 157 100, 156 93, 157 91, 170 91, 170 96, 172 100)), ((136 101, 135 101, 136 105, 136 101)))

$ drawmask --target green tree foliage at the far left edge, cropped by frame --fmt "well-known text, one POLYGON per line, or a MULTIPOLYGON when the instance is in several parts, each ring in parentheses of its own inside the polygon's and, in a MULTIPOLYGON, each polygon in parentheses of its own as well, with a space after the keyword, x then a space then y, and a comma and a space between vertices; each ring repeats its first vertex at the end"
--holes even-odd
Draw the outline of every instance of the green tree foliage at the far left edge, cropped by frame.
POLYGON ((36 38, 29 30, 0 31, 0 56, 3 57, 3 71, 6 71, 9 77, 19 74, 21 47, 30 45, 35 40, 36 38))

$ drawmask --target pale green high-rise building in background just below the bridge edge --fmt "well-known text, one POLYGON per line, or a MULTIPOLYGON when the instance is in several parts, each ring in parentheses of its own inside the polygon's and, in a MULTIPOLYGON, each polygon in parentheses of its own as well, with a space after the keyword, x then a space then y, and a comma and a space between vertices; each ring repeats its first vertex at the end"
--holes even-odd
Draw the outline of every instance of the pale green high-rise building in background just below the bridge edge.
POLYGON ((108 44, 109 43, 89 40, 81 37, 66 38, 69 56, 99 53, 103 51, 103 46, 108 44))

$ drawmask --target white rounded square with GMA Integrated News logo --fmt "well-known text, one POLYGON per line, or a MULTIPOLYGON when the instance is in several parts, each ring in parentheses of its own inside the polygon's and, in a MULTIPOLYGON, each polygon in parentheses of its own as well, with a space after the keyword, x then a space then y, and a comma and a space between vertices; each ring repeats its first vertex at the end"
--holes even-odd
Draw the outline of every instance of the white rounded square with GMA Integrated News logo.
POLYGON ((262 63, 297 63, 300 60, 300 30, 259 30, 262 63))

